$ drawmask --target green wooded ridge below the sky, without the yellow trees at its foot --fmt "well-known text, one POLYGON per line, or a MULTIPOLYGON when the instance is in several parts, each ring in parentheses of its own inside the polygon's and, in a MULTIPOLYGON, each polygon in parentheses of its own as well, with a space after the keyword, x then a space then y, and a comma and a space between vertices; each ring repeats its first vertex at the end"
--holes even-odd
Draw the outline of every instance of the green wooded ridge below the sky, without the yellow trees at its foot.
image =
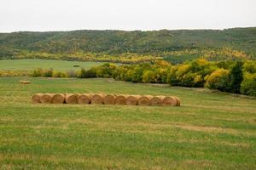
POLYGON ((19 31, 0 33, 0 59, 34 54, 161 54, 231 48, 256 56, 256 27, 224 30, 19 31))

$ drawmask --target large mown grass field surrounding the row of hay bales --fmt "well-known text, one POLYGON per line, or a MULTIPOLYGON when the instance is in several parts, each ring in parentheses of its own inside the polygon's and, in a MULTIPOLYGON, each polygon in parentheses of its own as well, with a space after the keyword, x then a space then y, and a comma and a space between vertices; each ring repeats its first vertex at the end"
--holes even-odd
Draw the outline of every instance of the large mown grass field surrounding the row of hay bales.
POLYGON ((1 169, 256 169, 256 99, 109 79, 0 78, 1 169), (32 94, 177 95, 181 107, 33 105, 32 94))

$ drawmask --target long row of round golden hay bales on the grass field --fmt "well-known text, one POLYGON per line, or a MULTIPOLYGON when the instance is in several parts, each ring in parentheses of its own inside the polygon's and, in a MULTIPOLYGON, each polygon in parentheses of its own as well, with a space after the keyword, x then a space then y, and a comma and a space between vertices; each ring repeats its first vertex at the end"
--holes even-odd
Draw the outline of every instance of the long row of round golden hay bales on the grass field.
POLYGON ((172 105, 179 106, 175 96, 125 94, 34 94, 33 103, 43 104, 95 104, 95 105, 172 105))

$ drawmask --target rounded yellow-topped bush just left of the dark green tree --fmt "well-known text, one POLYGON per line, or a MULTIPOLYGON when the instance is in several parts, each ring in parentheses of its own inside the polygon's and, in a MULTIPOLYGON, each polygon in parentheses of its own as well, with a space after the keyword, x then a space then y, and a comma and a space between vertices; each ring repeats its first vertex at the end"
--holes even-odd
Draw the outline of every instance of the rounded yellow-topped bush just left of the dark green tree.
POLYGON ((206 87, 224 92, 230 91, 230 71, 218 69, 206 77, 206 87))

